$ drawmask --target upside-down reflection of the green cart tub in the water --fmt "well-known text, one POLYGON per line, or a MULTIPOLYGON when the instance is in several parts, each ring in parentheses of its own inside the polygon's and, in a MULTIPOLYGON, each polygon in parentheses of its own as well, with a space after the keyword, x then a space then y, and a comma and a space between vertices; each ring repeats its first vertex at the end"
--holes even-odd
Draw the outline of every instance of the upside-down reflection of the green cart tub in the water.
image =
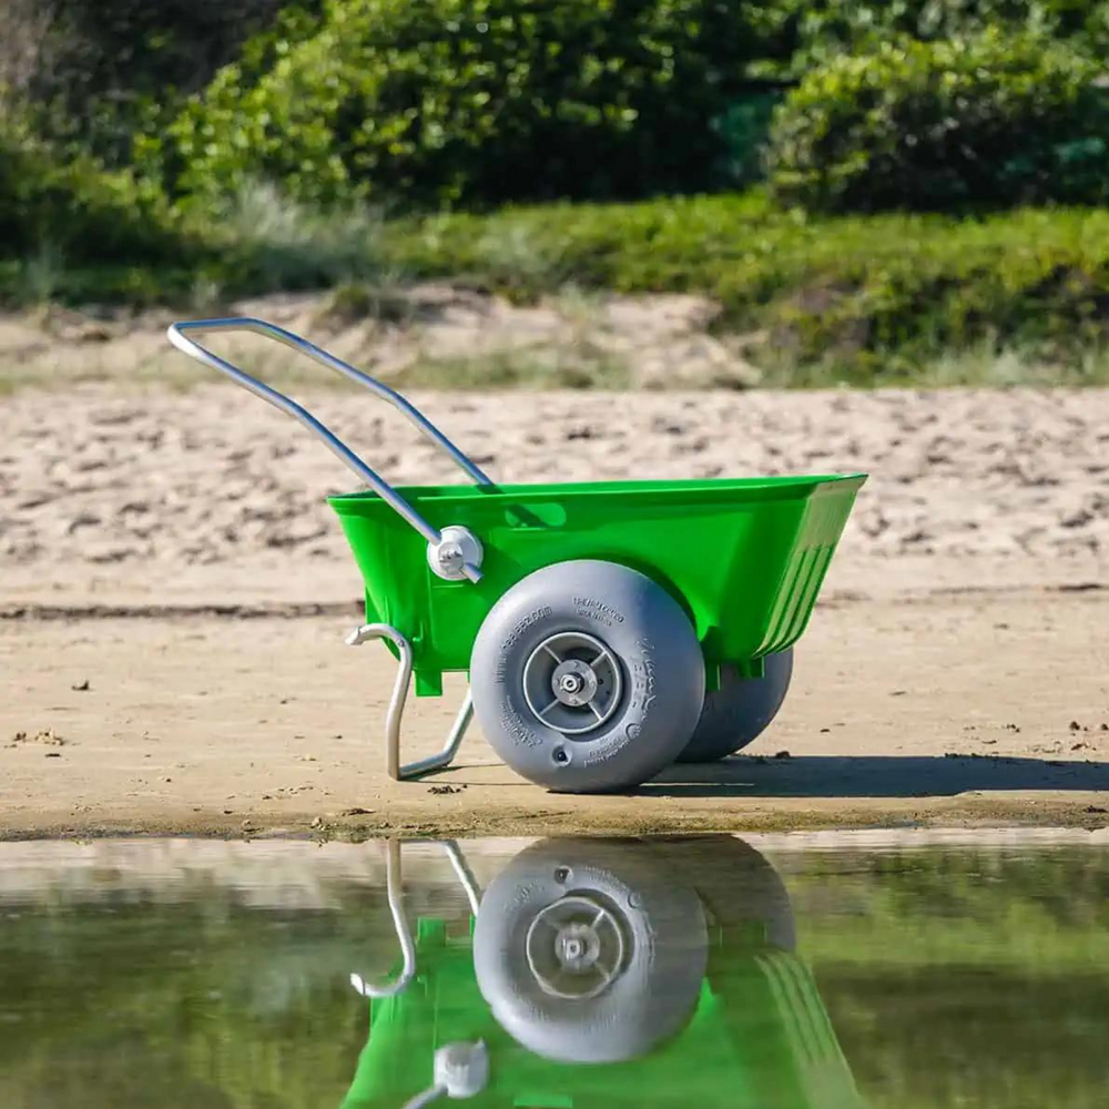
POLYGON ((395 1109, 431 1085, 436 1048, 484 1039, 490 1085, 475 1109, 644 1105, 729 1109, 858 1109, 847 1065, 796 956, 719 939, 685 1027, 651 1054, 568 1067, 516 1044, 478 989, 469 944, 420 919, 418 970, 396 997, 370 1003, 369 1040, 343 1109, 395 1109))

